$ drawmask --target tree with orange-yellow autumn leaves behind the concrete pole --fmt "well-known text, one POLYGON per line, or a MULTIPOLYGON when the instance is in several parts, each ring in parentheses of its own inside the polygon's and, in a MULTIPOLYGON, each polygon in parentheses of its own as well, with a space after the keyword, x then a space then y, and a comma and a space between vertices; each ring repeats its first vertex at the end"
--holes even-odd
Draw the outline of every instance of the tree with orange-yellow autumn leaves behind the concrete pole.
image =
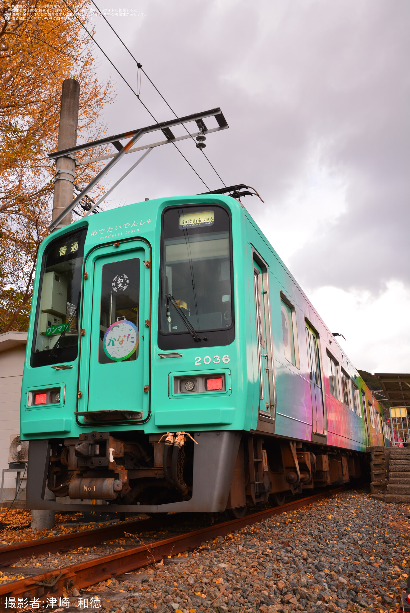
MULTIPOLYGON (((87 21, 88 0, 71 7, 87 21)), ((0 333, 28 326, 37 251, 51 220, 55 166, 47 153, 57 145, 64 79, 80 83, 79 136, 104 132, 101 109, 114 94, 98 81, 91 45, 64 5, 55 12, 47 0, 0 2, 0 333)), ((75 182, 81 188, 98 170, 80 166, 75 182)))

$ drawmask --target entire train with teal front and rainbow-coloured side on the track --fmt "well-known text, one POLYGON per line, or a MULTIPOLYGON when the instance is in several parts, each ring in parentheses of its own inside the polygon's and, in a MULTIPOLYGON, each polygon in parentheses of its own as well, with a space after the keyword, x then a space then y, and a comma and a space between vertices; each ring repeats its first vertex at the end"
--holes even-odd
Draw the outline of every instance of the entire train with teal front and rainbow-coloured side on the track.
POLYGON ((314 476, 346 482, 385 442, 357 371, 229 196, 151 200, 50 235, 28 339, 30 508, 244 509, 314 476))

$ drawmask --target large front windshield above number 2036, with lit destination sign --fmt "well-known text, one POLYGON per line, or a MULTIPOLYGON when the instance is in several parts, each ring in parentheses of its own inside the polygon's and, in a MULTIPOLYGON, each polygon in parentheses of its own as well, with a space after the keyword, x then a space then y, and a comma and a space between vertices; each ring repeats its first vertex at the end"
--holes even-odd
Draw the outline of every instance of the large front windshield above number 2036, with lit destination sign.
MULTIPOLYGON (((233 326, 231 265, 230 216, 224 208, 201 205, 166 210, 161 333, 190 334, 195 341, 197 332, 230 329, 233 326)), ((219 342, 226 344, 224 340, 219 342)))

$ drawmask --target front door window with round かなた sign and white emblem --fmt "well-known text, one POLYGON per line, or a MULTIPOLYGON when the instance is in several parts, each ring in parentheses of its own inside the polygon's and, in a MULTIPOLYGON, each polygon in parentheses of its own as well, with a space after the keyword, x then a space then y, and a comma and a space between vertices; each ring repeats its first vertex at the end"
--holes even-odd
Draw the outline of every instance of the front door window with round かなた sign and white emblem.
POLYGON ((126 362, 138 357, 138 257, 103 265, 99 317, 100 364, 126 362))

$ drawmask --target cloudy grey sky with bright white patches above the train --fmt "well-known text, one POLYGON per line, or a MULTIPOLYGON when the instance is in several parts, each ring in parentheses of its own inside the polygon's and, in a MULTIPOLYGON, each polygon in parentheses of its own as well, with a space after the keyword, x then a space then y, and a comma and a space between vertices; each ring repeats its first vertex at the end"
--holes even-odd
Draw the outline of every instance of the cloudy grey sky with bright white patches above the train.
MULTIPOLYGON (((101 9, 117 2, 96 0, 101 9)), ((206 154, 358 368, 410 371, 408 0, 135 0, 109 17, 180 115, 220 106, 230 128, 206 154), (142 14, 141 14, 142 13, 142 14)), ((136 65, 101 17, 96 40, 131 85, 136 65)), ((112 75, 110 134, 153 123, 112 75)), ((142 77, 141 99, 172 113, 142 77)), ((178 135, 179 131, 176 129, 178 135)), ((182 132, 181 132, 182 133, 182 132)), ((154 140, 157 139, 155 136, 154 140)), ((179 145, 211 189, 222 186, 193 142, 179 145)), ((107 186, 136 161, 126 156, 107 186)), ((108 207, 204 186, 172 145, 152 151, 108 207)))

